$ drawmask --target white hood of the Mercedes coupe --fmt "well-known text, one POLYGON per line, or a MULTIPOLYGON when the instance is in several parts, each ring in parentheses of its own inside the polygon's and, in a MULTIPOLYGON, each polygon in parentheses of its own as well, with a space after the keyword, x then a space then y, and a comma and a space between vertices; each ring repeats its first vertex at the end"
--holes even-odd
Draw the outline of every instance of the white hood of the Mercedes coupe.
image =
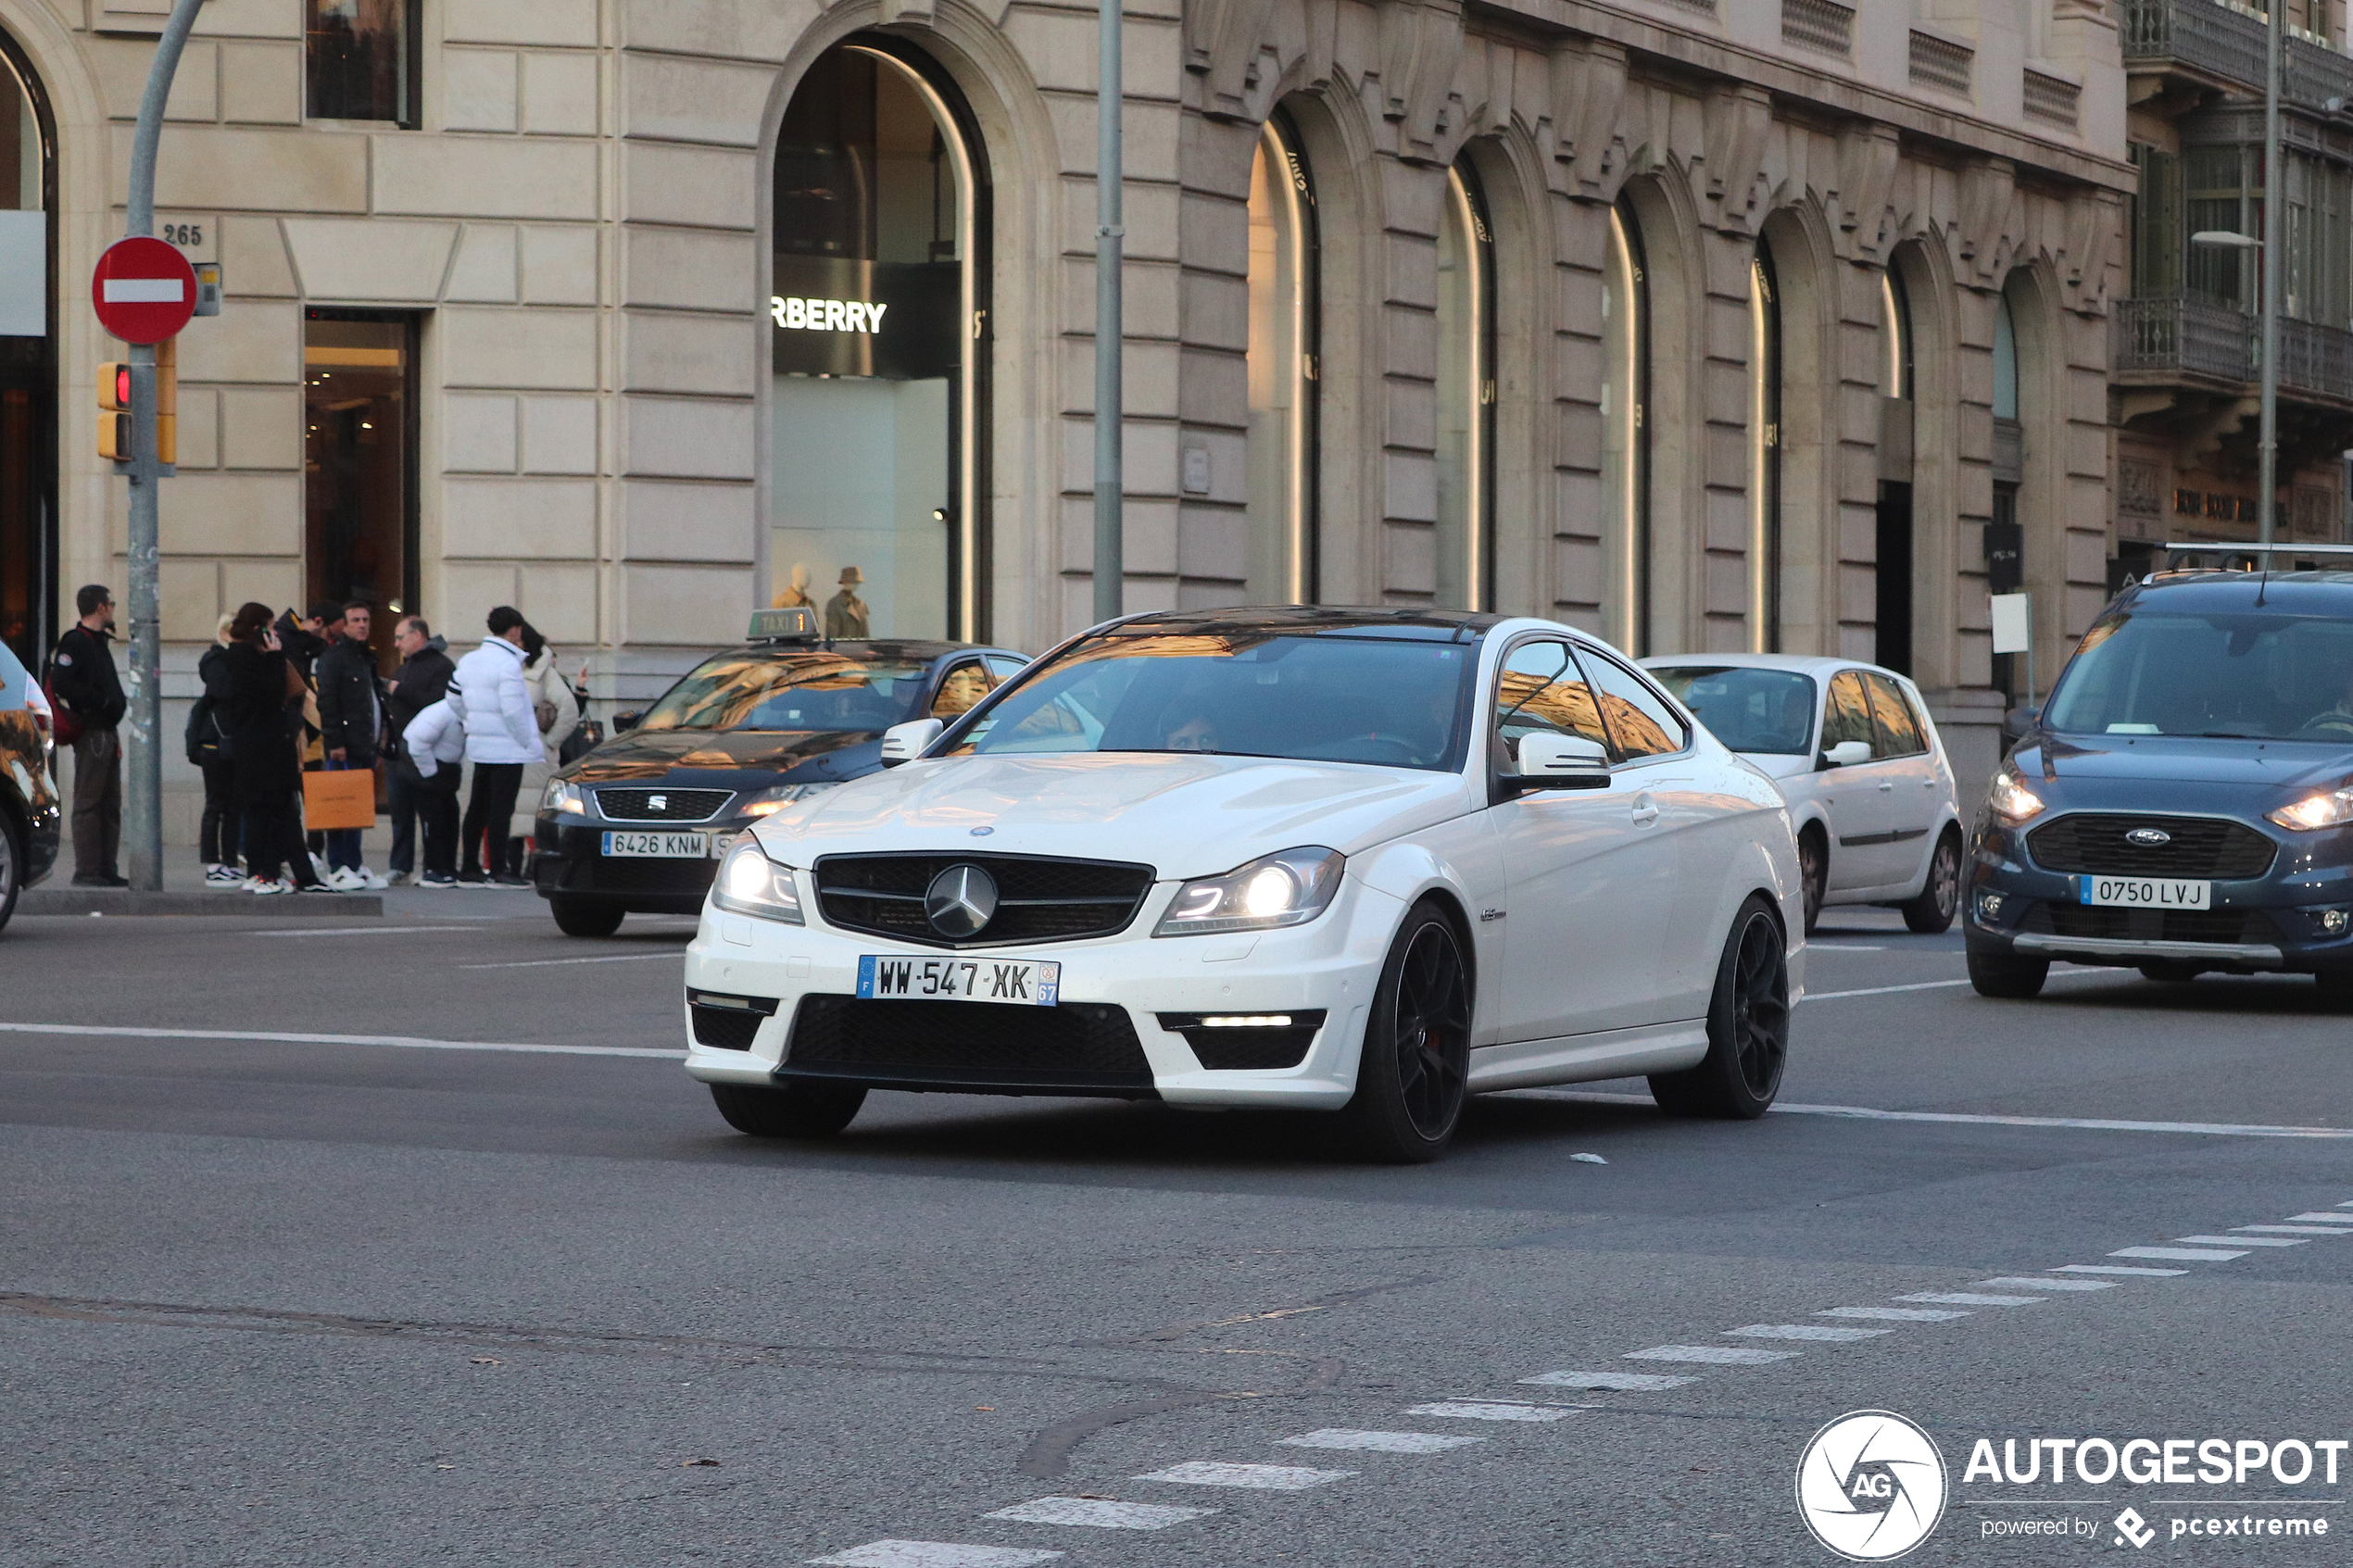
POLYGON ((899 849, 1141 860, 1172 879, 1228 872, 1301 844, 1355 853, 1466 809, 1459 773, 1075 752, 911 762, 800 802, 758 835, 791 865, 899 849))

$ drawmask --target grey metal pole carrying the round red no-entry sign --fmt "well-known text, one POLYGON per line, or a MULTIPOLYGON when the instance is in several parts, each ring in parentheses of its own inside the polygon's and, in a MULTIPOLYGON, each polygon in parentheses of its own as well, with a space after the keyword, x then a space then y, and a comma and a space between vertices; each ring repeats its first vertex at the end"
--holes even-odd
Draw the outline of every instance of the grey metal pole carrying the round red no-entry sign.
MULTIPOLYGON (((132 132, 132 186, 127 237, 155 233, 155 148, 162 141, 162 106, 172 96, 179 52, 205 0, 174 0, 155 40, 155 63, 139 96, 139 129, 132 132)), ((162 583, 155 564, 155 484, 162 480, 155 451, 155 346, 132 343, 132 531, 129 607, 132 668, 127 710, 129 745, 122 748, 122 849, 134 889, 162 891, 162 583)))

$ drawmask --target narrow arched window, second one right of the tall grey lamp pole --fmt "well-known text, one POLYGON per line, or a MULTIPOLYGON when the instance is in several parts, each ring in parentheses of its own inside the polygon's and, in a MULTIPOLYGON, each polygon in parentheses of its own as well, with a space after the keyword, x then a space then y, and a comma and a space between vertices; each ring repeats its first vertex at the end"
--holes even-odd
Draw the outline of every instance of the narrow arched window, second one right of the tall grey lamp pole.
POLYGON ((1438 557, 1442 609, 1494 609, 1494 228, 1478 172, 1438 219, 1438 557))

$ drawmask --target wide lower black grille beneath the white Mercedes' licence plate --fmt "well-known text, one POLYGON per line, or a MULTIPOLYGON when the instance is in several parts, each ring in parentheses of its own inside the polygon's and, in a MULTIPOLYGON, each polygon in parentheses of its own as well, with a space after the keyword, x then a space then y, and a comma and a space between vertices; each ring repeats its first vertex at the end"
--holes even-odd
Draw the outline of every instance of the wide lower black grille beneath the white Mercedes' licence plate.
POLYGON ((1127 1009, 1096 1001, 859 1001, 807 994, 788 1072, 868 1084, 1151 1095, 1153 1070, 1127 1009))

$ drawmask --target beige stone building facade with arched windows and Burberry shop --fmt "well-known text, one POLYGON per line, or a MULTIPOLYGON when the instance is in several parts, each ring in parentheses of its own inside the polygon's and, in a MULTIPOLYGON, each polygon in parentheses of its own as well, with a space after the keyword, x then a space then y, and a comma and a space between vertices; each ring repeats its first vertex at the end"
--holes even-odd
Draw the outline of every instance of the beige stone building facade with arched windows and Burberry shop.
MULTIPOLYGON (((0 339, 26 642, 122 581, 80 280, 167 9, 0 0, 49 268, 47 334, 0 339)), ((1991 766, 2019 675, 1988 538, 2045 670, 2113 552, 2113 7, 1125 26, 1129 609, 1875 656, 1991 766)), ((181 341, 167 691, 242 599, 452 639, 513 602, 624 703, 852 574, 875 635, 1080 628, 1094 31, 1033 0, 212 0, 158 188, 228 294, 181 341)))

